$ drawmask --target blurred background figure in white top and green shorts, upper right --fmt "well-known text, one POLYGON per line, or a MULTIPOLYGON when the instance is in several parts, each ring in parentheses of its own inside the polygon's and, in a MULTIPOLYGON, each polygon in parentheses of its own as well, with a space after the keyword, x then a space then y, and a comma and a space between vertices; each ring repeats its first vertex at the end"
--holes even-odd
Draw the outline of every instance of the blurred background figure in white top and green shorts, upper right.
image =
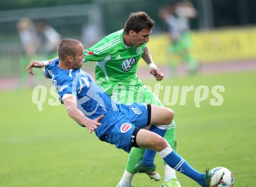
POLYGON ((190 73, 196 73, 199 63, 190 53, 191 33, 189 19, 197 16, 197 10, 190 1, 176 1, 160 9, 159 15, 168 27, 170 37, 170 71, 176 73, 177 62, 187 64, 190 73))

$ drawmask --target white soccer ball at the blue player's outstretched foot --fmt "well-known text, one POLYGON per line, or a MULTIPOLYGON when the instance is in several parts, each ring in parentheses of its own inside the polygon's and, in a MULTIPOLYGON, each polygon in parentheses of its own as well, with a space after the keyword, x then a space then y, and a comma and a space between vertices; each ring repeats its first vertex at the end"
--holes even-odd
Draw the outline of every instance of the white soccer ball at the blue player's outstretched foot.
POLYGON ((221 182, 219 182, 219 184, 216 185, 215 187, 231 187, 231 186, 233 186, 233 183, 234 183, 233 174, 227 168, 215 167, 210 171, 210 174, 214 174, 215 172, 219 172, 219 171, 223 171, 224 175, 221 179, 221 182))

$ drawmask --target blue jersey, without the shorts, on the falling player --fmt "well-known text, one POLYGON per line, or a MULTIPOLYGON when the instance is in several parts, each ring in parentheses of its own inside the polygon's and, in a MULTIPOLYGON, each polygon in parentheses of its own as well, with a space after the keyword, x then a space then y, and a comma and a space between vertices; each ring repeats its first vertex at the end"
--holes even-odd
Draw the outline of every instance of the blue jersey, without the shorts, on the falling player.
POLYGON ((75 95, 77 107, 90 119, 101 114, 105 116, 116 109, 116 103, 112 103, 109 95, 102 91, 86 72, 81 69, 62 70, 58 64, 59 60, 54 60, 45 67, 45 74, 52 78, 52 84, 58 91, 60 102, 65 96, 75 95))

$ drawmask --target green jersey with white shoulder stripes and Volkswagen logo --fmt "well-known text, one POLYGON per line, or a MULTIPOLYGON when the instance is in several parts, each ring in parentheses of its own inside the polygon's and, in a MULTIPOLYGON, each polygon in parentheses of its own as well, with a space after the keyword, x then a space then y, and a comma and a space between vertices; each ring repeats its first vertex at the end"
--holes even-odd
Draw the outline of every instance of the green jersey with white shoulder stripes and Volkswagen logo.
POLYGON ((146 45, 125 45, 123 30, 119 30, 85 50, 85 60, 97 62, 95 79, 101 87, 109 84, 129 87, 131 81, 135 81, 135 85, 140 85, 142 82, 137 77, 138 60, 146 45))

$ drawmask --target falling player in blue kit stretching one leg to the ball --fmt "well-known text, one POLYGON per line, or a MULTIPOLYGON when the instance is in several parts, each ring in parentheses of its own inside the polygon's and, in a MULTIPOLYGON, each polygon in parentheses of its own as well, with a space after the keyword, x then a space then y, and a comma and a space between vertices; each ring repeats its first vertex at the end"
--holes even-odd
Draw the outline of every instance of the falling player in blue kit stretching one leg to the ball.
POLYGON ((109 95, 80 69, 84 60, 83 45, 76 39, 63 39, 58 46, 58 56, 59 59, 45 67, 43 73, 52 78, 67 114, 74 121, 89 132, 94 131, 101 141, 126 152, 130 152, 131 147, 155 150, 170 167, 201 186, 219 184, 223 172, 209 174, 207 170, 202 174, 194 170, 162 138, 172 122, 172 110, 143 103, 112 102, 109 95), (143 129, 148 125, 151 125, 151 131, 143 129))

